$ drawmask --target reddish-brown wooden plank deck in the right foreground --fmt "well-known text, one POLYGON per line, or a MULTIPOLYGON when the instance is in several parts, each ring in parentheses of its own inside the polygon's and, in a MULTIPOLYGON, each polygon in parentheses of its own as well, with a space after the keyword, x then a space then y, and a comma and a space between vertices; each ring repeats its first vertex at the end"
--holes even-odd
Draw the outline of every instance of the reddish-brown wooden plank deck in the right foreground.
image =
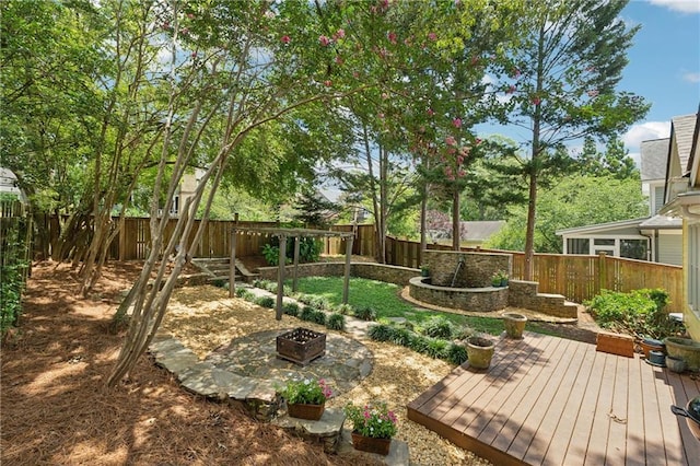
POLYGON ((594 345, 525 333, 488 371, 468 362, 408 405, 408 418, 497 465, 700 465, 700 440, 670 412, 699 377, 594 345))

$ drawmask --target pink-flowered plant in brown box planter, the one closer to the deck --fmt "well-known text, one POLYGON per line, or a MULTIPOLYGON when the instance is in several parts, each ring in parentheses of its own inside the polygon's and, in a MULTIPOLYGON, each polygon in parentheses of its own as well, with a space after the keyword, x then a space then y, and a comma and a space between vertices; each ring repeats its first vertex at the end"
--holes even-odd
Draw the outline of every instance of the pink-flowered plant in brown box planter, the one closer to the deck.
POLYGON ((396 435, 396 415, 384 401, 368 403, 363 407, 347 404, 343 411, 352 422, 352 446, 363 452, 388 455, 392 438, 396 435))

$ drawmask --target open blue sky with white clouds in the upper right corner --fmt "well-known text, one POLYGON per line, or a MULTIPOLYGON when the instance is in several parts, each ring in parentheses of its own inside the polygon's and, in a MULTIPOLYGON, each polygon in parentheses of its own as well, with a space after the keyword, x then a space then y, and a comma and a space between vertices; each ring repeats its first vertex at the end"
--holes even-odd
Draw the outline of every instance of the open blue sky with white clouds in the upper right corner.
POLYGON ((646 117, 623 135, 639 161, 641 141, 667 138, 670 119, 700 104, 700 0, 632 0, 622 20, 642 27, 628 53, 620 90, 652 104, 646 117))

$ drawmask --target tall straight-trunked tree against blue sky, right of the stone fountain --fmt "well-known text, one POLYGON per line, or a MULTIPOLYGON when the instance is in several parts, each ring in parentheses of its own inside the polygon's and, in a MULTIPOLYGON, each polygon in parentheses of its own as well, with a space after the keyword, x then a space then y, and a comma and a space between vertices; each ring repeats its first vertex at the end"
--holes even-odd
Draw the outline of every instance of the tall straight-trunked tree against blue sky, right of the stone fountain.
POLYGON ((510 123, 532 138, 523 171, 528 178, 525 278, 533 276, 537 189, 561 167, 561 147, 587 135, 609 138, 642 118, 649 105, 617 90, 639 26, 619 16, 627 1, 547 0, 530 3, 512 50, 510 123))

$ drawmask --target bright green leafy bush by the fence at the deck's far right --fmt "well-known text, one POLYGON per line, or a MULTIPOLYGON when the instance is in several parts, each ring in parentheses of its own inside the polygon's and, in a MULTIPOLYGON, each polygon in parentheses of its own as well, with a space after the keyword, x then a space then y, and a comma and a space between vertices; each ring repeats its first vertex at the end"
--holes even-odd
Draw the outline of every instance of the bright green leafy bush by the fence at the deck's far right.
POLYGON ((603 290, 584 304, 604 328, 638 337, 665 338, 682 333, 682 324, 665 312, 668 293, 663 289, 642 289, 629 293, 603 290))

